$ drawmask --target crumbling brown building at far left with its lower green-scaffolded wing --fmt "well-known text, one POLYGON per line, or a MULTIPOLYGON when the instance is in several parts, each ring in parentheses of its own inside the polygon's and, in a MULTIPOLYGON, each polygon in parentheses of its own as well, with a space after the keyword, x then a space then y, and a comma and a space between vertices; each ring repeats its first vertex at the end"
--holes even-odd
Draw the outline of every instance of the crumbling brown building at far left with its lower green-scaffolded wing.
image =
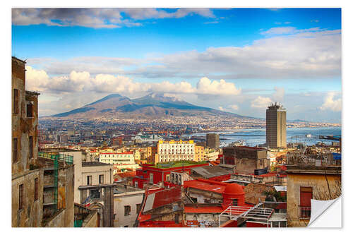
POLYGON ((72 158, 38 152, 40 94, 25 90, 25 61, 16 57, 11 94, 12 227, 73 227, 72 158))

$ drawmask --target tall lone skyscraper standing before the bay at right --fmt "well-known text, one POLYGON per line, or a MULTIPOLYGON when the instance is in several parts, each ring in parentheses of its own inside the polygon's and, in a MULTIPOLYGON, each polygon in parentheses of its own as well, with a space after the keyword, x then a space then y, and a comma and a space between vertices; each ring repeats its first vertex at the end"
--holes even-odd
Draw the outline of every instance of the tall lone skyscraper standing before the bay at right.
POLYGON ((287 147, 286 109, 271 104, 266 109, 266 145, 271 148, 287 147))

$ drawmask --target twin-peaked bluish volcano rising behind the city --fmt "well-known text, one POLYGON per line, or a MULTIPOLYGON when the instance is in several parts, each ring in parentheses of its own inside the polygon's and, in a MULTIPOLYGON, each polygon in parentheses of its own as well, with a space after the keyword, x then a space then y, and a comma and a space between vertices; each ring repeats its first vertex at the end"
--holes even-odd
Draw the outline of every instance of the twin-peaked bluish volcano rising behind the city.
POLYGON ((86 104, 70 112, 55 114, 52 117, 58 118, 157 118, 167 116, 223 116, 223 117, 244 117, 238 114, 222 112, 217 109, 200 107, 177 97, 152 93, 138 99, 129 99, 119 94, 107 95, 106 97, 86 104))

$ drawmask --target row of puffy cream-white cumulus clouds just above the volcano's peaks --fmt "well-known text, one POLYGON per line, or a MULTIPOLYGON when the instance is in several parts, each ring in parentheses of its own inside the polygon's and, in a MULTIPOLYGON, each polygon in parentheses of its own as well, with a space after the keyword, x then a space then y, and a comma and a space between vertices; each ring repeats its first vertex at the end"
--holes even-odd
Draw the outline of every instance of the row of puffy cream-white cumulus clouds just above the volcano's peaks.
POLYGON ((121 94, 133 94, 136 92, 160 92, 169 94, 196 94, 196 95, 239 95, 241 89, 237 89, 234 83, 225 80, 210 80, 201 78, 196 87, 191 83, 137 83, 126 76, 113 76, 111 74, 97 74, 91 76, 87 71, 71 71, 68 76, 54 76, 49 78, 43 70, 36 70, 26 66, 26 78, 28 90, 45 92, 119 92, 121 94))

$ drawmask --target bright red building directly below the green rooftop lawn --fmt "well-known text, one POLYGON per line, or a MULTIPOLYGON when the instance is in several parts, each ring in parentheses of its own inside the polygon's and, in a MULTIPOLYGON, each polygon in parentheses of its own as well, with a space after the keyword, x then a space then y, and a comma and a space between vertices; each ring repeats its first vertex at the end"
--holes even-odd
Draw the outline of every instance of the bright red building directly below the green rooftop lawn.
POLYGON ((160 182, 169 181, 171 171, 186 172, 190 175, 192 168, 208 166, 208 163, 198 164, 197 162, 189 162, 183 165, 181 165, 181 163, 174 164, 172 162, 169 164, 142 164, 142 169, 136 170, 136 177, 133 179, 133 185, 136 188, 143 188, 144 183, 157 184, 160 182), (169 164, 172 165, 172 167, 168 167, 169 164))

